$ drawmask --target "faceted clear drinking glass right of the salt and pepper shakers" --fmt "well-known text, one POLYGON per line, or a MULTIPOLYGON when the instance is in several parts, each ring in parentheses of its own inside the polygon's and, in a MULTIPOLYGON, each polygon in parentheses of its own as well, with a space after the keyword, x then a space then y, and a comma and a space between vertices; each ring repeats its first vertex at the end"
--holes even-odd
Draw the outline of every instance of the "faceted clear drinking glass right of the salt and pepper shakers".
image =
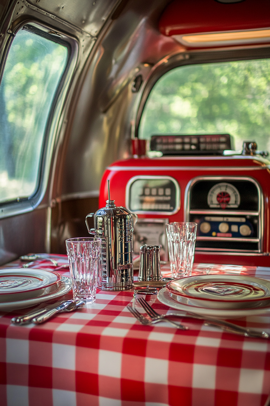
POLYGON ((194 261, 197 223, 173 222, 166 224, 170 268, 173 278, 191 274, 194 261))

